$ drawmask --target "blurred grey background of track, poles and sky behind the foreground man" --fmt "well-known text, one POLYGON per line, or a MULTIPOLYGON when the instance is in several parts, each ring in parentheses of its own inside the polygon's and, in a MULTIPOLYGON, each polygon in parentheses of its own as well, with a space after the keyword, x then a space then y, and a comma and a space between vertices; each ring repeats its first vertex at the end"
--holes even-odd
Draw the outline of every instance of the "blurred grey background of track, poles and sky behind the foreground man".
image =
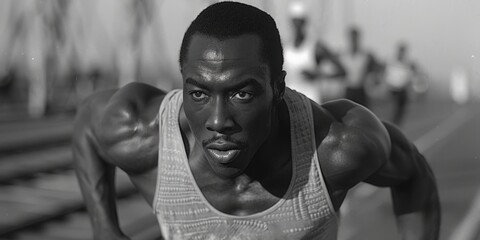
MULTIPOLYGON (((0 1, 0 239, 91 239, 71 165, 76 106, 133 81, 180 88, 183 33, 214 2, 0 1)), ((480 239, 480 1, 242 2, 277 21, 287 83, 308 78, 320 103, 361 96, 416 144, 438 180, 440 239, 480 239)), ((121 172, 117 187, 122 229, 160 239, 121 172)), ((400 239, 386 189, 359 185, 340 215, 339 239, 400 239)))

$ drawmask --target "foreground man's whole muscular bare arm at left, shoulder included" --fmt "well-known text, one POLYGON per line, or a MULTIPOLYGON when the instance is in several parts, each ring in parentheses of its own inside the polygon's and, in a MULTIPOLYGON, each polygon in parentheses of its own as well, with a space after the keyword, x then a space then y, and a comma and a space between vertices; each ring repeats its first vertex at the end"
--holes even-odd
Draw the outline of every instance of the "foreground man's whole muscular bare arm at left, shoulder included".
MULTIPOLYGON (((73 133, 74 167, 95 239, 128 239, 118 225, 115 169, 132 177, 156 167, 156 116, 164 96, 159 89, 133 83, 92 95, 79 108, 73 133)), ((145 197, 151 201, 151 196, 145 197)))

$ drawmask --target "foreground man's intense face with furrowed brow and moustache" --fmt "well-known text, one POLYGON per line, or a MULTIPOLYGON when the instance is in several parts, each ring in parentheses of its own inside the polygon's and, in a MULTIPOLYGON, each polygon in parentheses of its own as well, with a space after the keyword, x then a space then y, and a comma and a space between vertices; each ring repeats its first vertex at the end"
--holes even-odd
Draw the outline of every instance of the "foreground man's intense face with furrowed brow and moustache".
POLYGON ((182 66, 185 115, 219 176, 241 174, 270 135, 273 90, 260 41, 196 34, 182 66))

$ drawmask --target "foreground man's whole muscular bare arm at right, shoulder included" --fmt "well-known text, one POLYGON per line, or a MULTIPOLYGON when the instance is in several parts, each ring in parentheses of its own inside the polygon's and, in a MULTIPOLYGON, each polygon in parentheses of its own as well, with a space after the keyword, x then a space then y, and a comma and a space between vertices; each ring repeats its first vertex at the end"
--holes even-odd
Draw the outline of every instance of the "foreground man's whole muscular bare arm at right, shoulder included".
MULTIPOLYGON (((390 187, 403 239, 438 239, 440 205, 433 172, 416 147, 393 125, 382 123, 357 104, 340 100, 323 105, 340 122, 343 155, 331 164, 336 189, 364 181, 390 187)), ((338 190, 337 190, 338 191, 338 190)))

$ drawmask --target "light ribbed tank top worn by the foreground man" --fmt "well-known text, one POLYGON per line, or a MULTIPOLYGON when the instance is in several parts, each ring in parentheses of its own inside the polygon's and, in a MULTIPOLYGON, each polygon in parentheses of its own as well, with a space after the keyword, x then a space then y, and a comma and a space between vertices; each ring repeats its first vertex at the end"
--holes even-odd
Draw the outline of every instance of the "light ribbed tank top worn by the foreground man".
POLYGON ((338 219, 317 159, 309 100, 286 89, 293 174, 284 197, 269 209, 235 216, 215 209, 190 170, 178 123, 182 91, 160 111, 159 160, 153 212, 165 239, 336 239, 338 219))

